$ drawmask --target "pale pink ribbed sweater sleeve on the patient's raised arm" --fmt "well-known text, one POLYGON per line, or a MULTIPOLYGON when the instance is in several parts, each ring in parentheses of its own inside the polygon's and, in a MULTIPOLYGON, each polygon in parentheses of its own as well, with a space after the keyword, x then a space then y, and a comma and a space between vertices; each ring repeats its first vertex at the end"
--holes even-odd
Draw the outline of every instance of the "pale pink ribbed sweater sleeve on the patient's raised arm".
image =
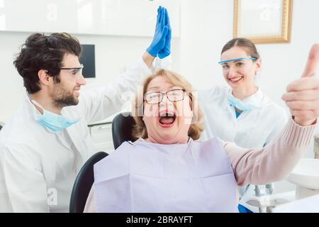
POLYGON ((224 142, 237 184, 267 184, 287 177, 306 153, 314 130, 315 124, 298 126, 291 118, 264 148, 240 148, 224 142))

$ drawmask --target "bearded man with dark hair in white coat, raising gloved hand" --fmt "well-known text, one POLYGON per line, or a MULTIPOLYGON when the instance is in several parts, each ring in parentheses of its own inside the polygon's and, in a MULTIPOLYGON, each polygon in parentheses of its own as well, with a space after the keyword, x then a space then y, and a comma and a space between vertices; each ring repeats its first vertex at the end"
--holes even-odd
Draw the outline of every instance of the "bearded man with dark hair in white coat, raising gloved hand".
MULTIPOLYGON (((113 87, 79 94, 86 84, 81 45, 67 33, 30 35, 14 65, 23 77, 23 107, 0 133, 0 211, 65 212, 74 179, 96 150, 87 125, 121 111, 155 57, 170 54, 169 18, 160 7, 152 43, 113 87)), ((160 61, 159 61, 160 62, 160 61)))

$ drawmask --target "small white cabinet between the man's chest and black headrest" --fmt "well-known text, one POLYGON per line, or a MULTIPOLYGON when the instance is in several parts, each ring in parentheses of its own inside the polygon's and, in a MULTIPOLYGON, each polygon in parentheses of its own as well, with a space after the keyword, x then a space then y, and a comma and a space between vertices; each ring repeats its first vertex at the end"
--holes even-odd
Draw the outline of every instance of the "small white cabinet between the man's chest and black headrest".
POLYGON ((111 122, 91 124, 89 131, 97 151, 106 153, 114 151, 111 122))

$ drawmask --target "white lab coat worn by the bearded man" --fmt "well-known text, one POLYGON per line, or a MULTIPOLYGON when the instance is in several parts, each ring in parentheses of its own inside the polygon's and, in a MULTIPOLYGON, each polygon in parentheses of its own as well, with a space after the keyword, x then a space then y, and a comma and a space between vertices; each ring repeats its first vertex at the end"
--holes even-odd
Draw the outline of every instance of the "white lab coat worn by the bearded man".
POLYGON ((121 111, 127 101, 121 95, 135 93, 149 74, 140 59, 111 87, 83 92, 77 106, 62 109, 63 116, 81 118, 65 131, 52 132, 35 121, 37 110, 26 96, 0 131, 0 212, 67 212, 77 172, 99 151, 88 124, 121 111))

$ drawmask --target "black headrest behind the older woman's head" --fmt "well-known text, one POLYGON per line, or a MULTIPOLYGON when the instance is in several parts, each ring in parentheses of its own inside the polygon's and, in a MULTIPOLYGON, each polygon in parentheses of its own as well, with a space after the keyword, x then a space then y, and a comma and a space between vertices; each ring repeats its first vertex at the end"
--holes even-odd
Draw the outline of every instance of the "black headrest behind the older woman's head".
POLYGON ((134 142, 136 139, 132 136, 134 118, 131 112, 123 112, 116 115, 112 121, 112 137, 114 149, 118 148, 125 141, 134 142))

